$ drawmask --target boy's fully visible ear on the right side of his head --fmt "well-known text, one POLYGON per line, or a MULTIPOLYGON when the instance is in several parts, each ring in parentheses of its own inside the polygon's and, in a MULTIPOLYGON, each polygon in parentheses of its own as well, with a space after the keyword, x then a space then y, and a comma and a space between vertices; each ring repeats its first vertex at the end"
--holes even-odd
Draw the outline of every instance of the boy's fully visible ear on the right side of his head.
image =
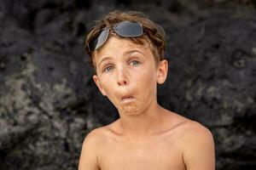
POLYGON ((168 73, 168 61, 166 59, 163 59, 160 61, 158 65, 158 70, 157 70, 157 82, 159 84, 166 82, 167 73, 168 73))

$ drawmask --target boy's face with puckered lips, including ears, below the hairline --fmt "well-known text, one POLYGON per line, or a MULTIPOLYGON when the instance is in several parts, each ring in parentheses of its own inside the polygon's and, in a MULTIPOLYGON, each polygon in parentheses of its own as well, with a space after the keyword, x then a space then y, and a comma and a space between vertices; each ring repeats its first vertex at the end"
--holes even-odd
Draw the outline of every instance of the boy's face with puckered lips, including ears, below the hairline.
POLYGON ((167 61, 156 65, 148 44, 140 45, 124 38, 109 37, 94 54, 93 76, 103 95, 119 114, 135 116, 157 103, 157 83, 167 75, 167 61))

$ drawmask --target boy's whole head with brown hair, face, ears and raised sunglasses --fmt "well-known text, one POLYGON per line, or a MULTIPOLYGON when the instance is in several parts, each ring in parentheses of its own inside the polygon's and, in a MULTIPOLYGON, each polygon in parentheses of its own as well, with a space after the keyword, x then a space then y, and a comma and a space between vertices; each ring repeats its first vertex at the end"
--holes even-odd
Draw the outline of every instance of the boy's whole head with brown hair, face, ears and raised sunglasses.
POLYGON ((135 116, 157 104, 157 83, 165 82, 168 70, 163 34, 140 13, 114 11, 87 36, 93 80, 119 113, 135 116))

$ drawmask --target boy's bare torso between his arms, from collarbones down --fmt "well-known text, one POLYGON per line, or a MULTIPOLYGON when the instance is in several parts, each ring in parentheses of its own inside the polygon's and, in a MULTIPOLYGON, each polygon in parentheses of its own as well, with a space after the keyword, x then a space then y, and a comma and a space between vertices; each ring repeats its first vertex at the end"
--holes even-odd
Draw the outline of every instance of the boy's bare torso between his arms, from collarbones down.
MULTIPOLYGON (((169 130, 143 138, 115 133, 118 121, 102 127, 105 141, 99 146, 101 170, 185 170, 183 143, 179 140, 188 119, 176 116, 169 130)), ((172 117, 173 119, 173 117, 172 117)))

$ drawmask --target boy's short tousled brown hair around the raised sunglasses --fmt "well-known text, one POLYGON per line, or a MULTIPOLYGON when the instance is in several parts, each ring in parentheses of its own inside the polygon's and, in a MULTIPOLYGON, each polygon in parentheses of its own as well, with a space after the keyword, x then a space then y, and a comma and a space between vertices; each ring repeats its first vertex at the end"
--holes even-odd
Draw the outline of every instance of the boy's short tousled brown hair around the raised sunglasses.
MULTIPOLYGON (((130 39, 132 42, 144 44, 148 42, 149 47, 154 54, 154 59, 158 64, 160 60, 164 59, 165 51, 165 32, 161 26, 149 20, 143 13, 137 11, 120 12, 114 10, 102 17, 101 20, 96 20, 96 26, 92 27, 85 40, 85 53, 90 56, 91 65, 94 65, 93 52, 90 51, 90 43, 95 41, 105 27, 111 27, 121 21, 137 21, 143 25, 143 36, 141 37, 123 37, 130 39)), ((109 37, 112 37, 113 29, 110 29, 109 37)))

